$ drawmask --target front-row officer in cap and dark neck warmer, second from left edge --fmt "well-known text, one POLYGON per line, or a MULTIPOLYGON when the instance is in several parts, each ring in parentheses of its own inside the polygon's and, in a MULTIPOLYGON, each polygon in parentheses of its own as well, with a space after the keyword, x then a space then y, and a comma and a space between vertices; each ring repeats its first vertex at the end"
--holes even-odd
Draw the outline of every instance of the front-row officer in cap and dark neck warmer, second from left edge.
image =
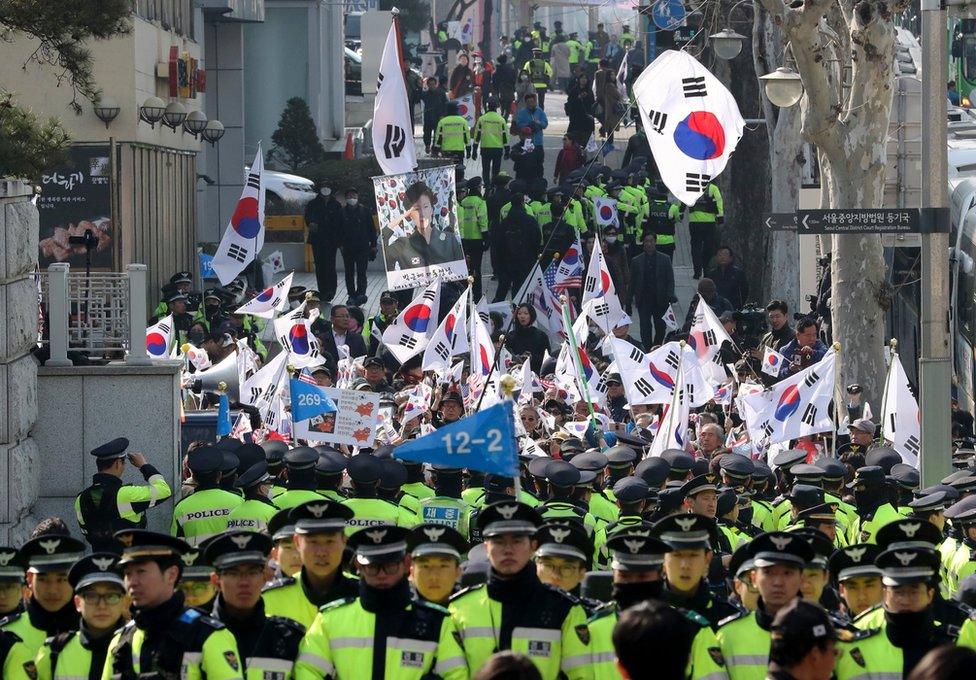
POLYGON ((30 599, 23 612, 3 619, 0 628, 20 638, 31 656, 45 639, 78 628, 67 576, 84 552, 84 542, 57 534, 32 538, 20 549, 18 557, 27 564, 30 599))

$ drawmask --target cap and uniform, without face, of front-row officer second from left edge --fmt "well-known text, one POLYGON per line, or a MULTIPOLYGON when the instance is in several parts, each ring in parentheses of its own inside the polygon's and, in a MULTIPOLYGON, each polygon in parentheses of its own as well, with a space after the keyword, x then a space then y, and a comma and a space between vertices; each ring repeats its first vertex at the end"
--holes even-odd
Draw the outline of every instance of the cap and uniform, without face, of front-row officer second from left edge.
MULTIPOLYGON (((21 547, 18 559, 34 574, 65 574, 71 565, 85 552, 83 541, 71 536, 37 536, 21 547)), ((71 598, 57 611, 48 611, 31 595, 23 612, 12 614, 2 622, 0 629, 14 633, 31 656, 44 644, 44 640, 78 627, 78 612, 71 598)))

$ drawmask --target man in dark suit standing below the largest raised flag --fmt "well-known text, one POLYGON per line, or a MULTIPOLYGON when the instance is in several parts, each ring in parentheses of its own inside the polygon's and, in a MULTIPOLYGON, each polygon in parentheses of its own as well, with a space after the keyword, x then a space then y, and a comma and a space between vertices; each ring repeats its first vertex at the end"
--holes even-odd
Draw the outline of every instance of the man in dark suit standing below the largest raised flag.
POLYGON ((630 296, 640 316, 641 344, 664 342, 664 312, 676 302, 671 258, 657 250, 657 234, 644 234, 644 252, 630 261, 630 296))

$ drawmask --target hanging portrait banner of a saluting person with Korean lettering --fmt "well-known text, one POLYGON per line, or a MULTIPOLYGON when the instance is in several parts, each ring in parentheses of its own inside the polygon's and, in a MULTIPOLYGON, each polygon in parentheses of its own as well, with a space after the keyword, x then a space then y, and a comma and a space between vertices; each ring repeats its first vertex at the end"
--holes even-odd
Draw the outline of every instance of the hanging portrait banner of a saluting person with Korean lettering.
POLYGON ((468 277, 453 165, 374 177, 373 188, 390 290, 468 277))

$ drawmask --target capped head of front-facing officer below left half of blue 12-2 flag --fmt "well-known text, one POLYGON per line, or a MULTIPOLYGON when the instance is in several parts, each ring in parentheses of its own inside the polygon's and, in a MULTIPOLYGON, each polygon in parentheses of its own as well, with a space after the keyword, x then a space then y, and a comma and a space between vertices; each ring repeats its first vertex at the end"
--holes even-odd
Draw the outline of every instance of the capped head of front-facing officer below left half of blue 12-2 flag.
POLYGON ((468 541, 443 524, 420 524, 410 530, 410 583, 418 597, 446 607, 461 579, 468 541))

